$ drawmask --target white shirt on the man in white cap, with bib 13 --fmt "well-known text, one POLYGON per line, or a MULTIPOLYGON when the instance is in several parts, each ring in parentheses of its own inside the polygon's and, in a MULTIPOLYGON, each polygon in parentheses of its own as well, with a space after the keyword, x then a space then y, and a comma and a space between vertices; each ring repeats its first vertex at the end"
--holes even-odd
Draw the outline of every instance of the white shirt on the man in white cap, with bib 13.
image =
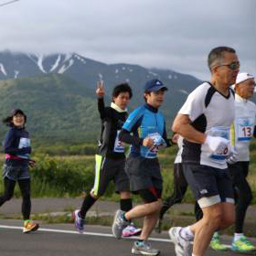
POLYGON ((250 161, 249 145, 254 131, 256 105, 235 94, 235 149, 238 161, 250 161))

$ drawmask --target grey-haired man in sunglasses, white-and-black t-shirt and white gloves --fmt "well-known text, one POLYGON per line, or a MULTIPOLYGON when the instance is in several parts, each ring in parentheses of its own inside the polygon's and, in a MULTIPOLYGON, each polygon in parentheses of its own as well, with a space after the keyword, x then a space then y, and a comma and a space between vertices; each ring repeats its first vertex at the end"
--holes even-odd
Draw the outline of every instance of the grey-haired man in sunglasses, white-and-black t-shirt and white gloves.
POLYGON ((209 82, 192 91, 178 112, 173 131, 184 137, 182 166, 203 218, 186 228, 169 230, 176 255, 203 256, 213 233, 234 222, 234 195, 226 158, 232 153, 229 128, 234 121, 235 83, 240 62, 233 48, 213 48, 208 54, 209 82))

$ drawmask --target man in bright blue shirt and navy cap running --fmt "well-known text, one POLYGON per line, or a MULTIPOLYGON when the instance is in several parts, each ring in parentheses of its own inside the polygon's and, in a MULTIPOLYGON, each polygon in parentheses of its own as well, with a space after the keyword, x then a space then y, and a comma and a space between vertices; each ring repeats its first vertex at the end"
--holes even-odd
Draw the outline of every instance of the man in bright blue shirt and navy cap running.
POLYGON ((148 242, 162 207, 163 180, 157 159, 157 151, 170 145, 165 133, 165 118, 158 112, 164 101, 167 88, 160 80, 149 80, 144 87, 144 106, 134 110, 123 124, 120 139, 132 144, 125 170, 130 178, 131 190, 139 194, 144 204, 128 212, 118 210, 112 224, 112 233, 120 239, 122 230, 131 219, 144 217, 144 226, 139 240, 134 242, 132 253, 157 255, 148 242), (133 133, 131 135, 130 133, 133 133))

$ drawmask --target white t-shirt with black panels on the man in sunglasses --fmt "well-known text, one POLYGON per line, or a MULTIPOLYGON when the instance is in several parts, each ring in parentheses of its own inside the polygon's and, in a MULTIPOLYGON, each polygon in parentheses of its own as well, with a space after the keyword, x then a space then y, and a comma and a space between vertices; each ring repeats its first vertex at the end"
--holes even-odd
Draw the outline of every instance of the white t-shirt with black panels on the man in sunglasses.
MULTIPOLYGON (((186 114, 192 126, 201 133, 229 139, 229 129, 234 121, 234 92, 225 96, 209 82, 204 82, 192 91, 179 113, 186 114)), ((182 163, 227 168, 226 152, 211 154, 207 144, 195 144, 184 139, 182 163)))

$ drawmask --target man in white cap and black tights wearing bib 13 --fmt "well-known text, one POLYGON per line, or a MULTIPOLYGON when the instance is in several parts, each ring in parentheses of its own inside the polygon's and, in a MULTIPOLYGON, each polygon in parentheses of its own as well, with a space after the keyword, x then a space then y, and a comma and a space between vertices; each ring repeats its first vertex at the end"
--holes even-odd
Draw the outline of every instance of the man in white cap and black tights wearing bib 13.
MULTIPOLYGON (((249 101, 253 96, 255 86, 254 77, 248 73, 240 73, 235 84, 235 150, 236 158, 228 159, 229 171, 232 176, 233 185, 238 192, 236 204, 235 234, 231 245, 231 250, 248 253, 255 251, 255 246, 251 244, 243 234, 243 223, 247 208, 250 206, 252 193, 246 177, 250 164, 250 142, 251 137, 255 137, 255 114, 256 106, 249 101), (254 131, 254 133, 253 133, 254 131), (238 161, 238 162, 236 162, 238 161)), ((210 242, 212 249, 223 251, 224 245, 220 243, 219 233, 216 232, 210 242)))

